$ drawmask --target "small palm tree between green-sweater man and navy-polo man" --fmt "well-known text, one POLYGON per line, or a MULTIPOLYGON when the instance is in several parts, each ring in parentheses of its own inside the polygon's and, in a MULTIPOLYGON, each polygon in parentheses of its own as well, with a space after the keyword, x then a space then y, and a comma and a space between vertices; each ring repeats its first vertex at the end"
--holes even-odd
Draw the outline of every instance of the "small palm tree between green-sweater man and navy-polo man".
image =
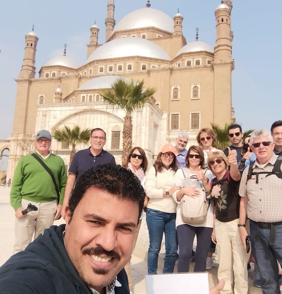
POLYGON ((53 133, 53 138, 58 142, 65 142, 72 146, 72 151, 70 153, 70 164, 72 162, 72 158, 75 156, 75 147, 81 143, 86 144, 89 141, 89 137, 90 130, 84 129, 80 131, 79 126, 74 126, 73 129, 65 126, 62 130, 55 130, 53 133))

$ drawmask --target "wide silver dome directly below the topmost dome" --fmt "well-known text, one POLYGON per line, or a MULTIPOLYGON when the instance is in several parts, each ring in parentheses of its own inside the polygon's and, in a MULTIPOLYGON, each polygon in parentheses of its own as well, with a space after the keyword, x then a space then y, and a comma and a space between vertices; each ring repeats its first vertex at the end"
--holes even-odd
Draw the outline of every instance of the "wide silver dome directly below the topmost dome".
MULTIPOLYGON (((147 8, 148 9, 148 8, 147 8)), ((119 38, 105 43, 96 49, 87 59, 87 63, 98 59, 142 56, 171 60, 160 46, 142 38, 119 38)))

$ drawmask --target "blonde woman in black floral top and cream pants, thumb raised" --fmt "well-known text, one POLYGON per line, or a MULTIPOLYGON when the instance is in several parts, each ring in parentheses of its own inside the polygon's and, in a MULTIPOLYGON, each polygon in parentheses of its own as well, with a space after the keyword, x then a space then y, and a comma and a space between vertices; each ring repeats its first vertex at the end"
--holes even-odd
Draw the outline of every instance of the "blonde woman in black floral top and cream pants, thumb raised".
POLYGON ((247 262, 250 253, 246 253, 238 230, 241 199, 238 188, 241 175, 237 158, 229 147, 227 150, 227 158, 219 151, 213 152, 208 157, 208 166, 215 175, 215 178, 211 181, 211 196, 215 201, 212 241, 217 244, 219 260, 217 278, 225 280, 221 293, 247 294, 247 262), (230 171, 228 165, 230 165, 230 171))

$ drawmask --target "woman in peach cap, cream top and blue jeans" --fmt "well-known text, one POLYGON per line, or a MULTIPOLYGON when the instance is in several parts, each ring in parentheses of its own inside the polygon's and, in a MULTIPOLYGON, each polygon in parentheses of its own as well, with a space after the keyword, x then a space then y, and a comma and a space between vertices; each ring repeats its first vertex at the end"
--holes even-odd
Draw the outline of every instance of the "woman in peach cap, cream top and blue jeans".
POLYGON ((166 238, 166 255, 163 273, 173 273, 176 261, 176 203, 172 194, 180 189, 173 185, 173 177, 178 169, 175 147, 166 144, 158 154, 155 163, 146 174, 145 191, 149 197, 146 222, 149 231, 148 274, 157 273, 158 255, 163 233, 166 238))

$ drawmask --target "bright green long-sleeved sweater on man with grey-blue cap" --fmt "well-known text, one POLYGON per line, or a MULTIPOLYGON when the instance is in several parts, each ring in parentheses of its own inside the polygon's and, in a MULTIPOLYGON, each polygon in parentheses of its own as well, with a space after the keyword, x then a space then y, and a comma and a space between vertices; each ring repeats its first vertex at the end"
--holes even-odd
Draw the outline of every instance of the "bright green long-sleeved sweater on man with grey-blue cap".
MULTIPOLYGON (((37 155, 39 156, 39 154, 37 155)), ((60 191, 60 199, 58 200, 52 178, 45 168, 33 156, 26 155, 19 160, 13 176, 10 202, 15 211, 21 207, 22 198, 39 203, 57 199, 58 204, 63 204, 67 181, 65 163, 60 156, 52 153, 46 159, 42 156, 40 158, 55 177, 60 191)))

